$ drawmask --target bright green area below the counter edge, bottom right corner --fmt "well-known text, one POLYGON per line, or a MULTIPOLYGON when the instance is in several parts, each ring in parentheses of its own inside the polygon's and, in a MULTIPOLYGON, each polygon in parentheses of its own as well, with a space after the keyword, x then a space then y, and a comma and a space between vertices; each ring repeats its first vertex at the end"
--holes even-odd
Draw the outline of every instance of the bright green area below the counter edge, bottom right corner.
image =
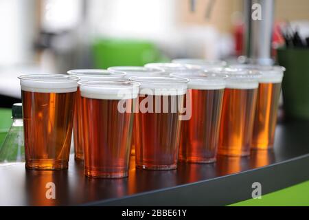
POLYGON ((309 181, 229 206, 309 206, 309 181))

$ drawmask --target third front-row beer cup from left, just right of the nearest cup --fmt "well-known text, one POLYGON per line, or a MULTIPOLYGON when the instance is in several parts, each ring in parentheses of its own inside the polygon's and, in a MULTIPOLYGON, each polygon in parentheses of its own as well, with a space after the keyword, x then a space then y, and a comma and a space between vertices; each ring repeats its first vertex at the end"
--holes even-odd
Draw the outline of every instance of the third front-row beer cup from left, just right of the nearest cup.
POLYGON ((172 170, 177 167, 181 114, 186 78, 132 77, 141 83, 135 117, 137 168, 172 170))

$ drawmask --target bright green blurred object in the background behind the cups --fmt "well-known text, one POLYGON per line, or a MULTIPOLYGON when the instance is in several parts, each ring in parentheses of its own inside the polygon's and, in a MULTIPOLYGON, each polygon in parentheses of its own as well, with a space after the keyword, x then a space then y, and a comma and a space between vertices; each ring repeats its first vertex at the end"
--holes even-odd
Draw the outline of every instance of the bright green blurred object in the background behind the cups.
POLYGON ((96 39, 92 55, 94 67, 98 69, 169 61, 155 44, 133 39, 96 39))

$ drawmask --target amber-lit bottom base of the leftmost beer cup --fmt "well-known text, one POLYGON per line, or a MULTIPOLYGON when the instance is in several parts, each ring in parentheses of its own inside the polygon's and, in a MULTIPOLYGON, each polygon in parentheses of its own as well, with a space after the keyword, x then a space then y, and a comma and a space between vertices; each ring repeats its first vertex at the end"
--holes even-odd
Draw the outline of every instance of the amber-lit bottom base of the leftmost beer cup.
POLYGON ((25 168, 30 170, 66 170, 68 162, 58 162, 54 159, 36 159, 25 163, 25 168))

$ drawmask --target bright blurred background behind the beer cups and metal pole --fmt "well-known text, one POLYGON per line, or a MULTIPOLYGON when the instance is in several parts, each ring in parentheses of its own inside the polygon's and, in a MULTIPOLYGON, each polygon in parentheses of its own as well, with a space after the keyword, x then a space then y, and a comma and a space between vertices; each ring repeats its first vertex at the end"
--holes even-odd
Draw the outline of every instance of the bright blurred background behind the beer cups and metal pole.
MULTIPOLYGON (((236 63, 244 54, 244 1, 0 0, 0 107, 19 102, 20 74, 172 58, 236 63)), ((308 32, 308 12, 308 0, 274 1, 272 57, 284 43, 280 25, 308 32)))

